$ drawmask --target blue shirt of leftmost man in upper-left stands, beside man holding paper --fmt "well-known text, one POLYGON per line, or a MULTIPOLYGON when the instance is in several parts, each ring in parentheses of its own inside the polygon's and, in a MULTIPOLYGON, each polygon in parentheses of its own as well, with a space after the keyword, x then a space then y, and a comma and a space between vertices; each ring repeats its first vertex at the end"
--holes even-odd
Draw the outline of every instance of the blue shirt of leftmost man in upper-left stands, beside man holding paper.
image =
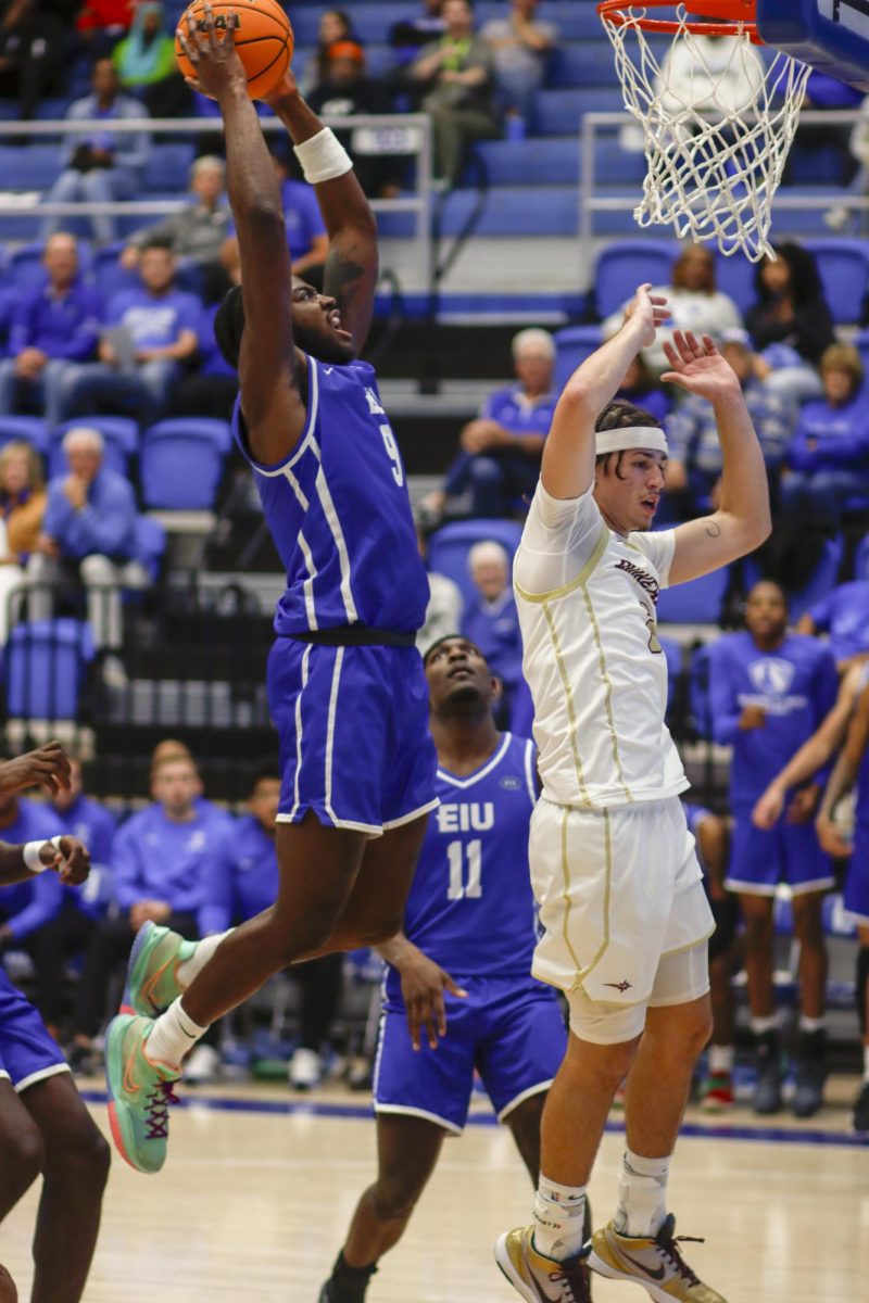
POLYGON ((99 294, 81 280, 63 294, 51 285, 31 289, 13 311, 9 354, 38 348, 48 357, 85 362, 96 352, 100 315, 99 294))

